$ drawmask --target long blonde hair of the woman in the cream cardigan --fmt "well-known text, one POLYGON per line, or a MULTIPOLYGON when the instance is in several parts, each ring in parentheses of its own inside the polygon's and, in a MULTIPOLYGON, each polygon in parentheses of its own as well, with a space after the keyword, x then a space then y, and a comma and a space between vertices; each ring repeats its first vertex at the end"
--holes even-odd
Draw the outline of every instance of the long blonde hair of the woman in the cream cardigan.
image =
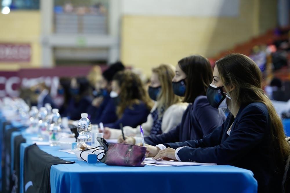
POLYGON ((152 72, 157 74, 158 80, 161 84, 161 90, 157 97, 157 111, 159 115, 158 117, 162 117, 163 113, 169 106, 181 102, 181 98, 173 93, 171 83, 175 75, 175 68, 170 64, 161 64, 158 67, 153 68, 152 72), (163 112, 161 111, 162 108, 164 109, 163 112))

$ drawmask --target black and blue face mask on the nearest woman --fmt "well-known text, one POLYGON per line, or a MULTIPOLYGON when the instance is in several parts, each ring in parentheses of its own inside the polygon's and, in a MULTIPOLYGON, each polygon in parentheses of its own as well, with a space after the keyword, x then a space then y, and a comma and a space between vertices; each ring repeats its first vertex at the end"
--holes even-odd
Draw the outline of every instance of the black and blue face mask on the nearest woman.
POLYGON ((214 85, 210 84, 206 91, 206 98, 209 104, 216 109, 227 108, 226 95, 222 91, 222 87, 214 87, 214 85))

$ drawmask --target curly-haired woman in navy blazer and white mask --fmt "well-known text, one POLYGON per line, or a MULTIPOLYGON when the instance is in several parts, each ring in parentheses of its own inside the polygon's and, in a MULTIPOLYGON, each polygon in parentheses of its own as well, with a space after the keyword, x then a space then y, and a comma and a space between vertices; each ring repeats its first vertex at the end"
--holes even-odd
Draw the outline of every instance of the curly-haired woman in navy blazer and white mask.
POLYGON ((153 106, 139 76, 131 70, 119 71, 115 74, 110 97, 117 106, 118 120, 104 124, 109 128, 119 129, 120 123, 123 126, 136 127, 146 121, 153 106))

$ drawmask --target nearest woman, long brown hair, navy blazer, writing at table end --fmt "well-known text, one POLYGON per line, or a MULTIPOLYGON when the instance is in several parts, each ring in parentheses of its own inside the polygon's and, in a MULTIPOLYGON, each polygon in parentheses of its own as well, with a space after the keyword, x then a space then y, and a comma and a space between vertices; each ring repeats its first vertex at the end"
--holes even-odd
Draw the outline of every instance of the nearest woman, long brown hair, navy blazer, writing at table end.
POLYGON ((207 98, 215 108, 228 106, 226 121, 204 139, 148 146, 150 156, 245 168, 254 173, 258 192, 281 192, 289 145, 261 82, 262 73, 249 57, 230 54, 221 58, 207 98))

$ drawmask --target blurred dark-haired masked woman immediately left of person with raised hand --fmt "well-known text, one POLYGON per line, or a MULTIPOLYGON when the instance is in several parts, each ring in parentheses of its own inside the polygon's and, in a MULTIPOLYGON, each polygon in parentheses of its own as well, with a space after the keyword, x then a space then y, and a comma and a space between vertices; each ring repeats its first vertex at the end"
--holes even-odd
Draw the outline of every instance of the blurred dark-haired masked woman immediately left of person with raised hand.
POLYGON ((86 113, 92 102, 90 85, 86 78, 72 78, 70 82, 71 99, 68 106, 68 117, 71 120, 79 120, 81 113, 86 113))

